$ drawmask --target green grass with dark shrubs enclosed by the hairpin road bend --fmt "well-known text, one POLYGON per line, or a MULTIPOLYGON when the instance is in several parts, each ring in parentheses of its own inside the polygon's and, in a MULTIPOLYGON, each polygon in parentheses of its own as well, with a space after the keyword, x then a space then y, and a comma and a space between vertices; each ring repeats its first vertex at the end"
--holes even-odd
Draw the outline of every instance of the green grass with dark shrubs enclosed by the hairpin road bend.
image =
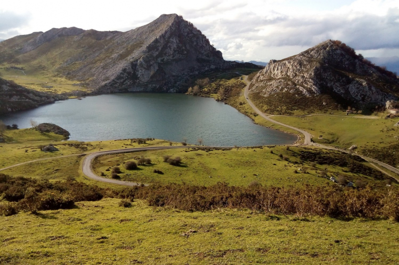
MULTIPOLYGON (((322 164, 306 159, 302 152, 313 153, 315 149, 301 147, 264 147, 264 148, 237 148, 232 150, 193 151, 185 150, 154 150, 126 154, 105 155, 98 157, 93 168, 97 175, 102 173, 111 177, 111 168, 119 166, 122 174, 121 180, 139 183, 187 183, 192 185, 209 186, 217 182, 226 182, 230 185, 247 186, 252 182, 263 185, 288 186, 288 185, 326 185, 330 181, 320 177, 321 172, 327 172, 329 177, 345 176, 348 180, 364 181, 384 187, 384 179, 378 179, 367 174, 366 171, 355 172, 353 168, 336 165, 334 161, 322 164), (273 151, 273 153, 271 153, 273 151), (172 166, 163 162, 165 155, 181 157, 181 166, 172 166), (282 157, 280 157, 282 156, 282 157), (151 165, 139 166, 136 170, 126 170, 124 163, 136 161, 140 158, 150 158, 151 165), (161 170, 164 174, 154 173, 161 170), (107 171, 108 170, 108 171, 107 171), (306 171, 306 173, 305 173, 306 171), (297 173, 296 173, 297 172, 297 173)), ((324 156, 337 156, 337 159, 353 159, 350 155, 339 154, 335 151, 322 151, 324 156)), ((321 163, 321 162, 320 162, 321 163)), ((369 168, 368 163, 363 163, 369 168)), ((399 179, 399 176, 397 176, 399 179)), ((396 184, 395 184, 396 185, 396 184)))

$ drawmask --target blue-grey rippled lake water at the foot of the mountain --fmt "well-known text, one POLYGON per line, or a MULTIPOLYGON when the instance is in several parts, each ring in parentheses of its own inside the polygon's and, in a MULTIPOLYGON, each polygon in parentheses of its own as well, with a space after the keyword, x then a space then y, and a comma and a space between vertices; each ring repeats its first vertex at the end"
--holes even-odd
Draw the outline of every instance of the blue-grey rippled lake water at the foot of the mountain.
POLYGON ((70 139, 96 141, 158 138, 209 146, 292 144, 296 136, 256 125, 245 115, 211 98, 185 94, 126 93, 69 99, 0 116, 5 124, 30 127, 30 120, 54 123, 70 139))

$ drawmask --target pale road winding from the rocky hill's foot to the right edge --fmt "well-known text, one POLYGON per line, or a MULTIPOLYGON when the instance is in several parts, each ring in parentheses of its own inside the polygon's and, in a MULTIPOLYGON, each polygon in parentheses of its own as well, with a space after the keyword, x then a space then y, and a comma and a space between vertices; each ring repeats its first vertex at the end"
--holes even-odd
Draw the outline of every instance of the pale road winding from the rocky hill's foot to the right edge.
MULTIPOLYGON (((301 130, 301 129, 299 129, 299 128, 296 128, 296 127, 293 127, 293 126, 284 124, 284 123, 282 123, 282 122, 278 122, 278 121, 276 121, 276 120, 273 120, 273 119, 271 118, 271 117, 272 117, 271 115, 267 115, 267 114, 263 113, 262 111, 260 111, 260 110, 252 103, 252 101, 248 98, 248 90, 249 90, 249 84, 250 84, 250 82, 248 81, 248 76, 247 76, 247 75, 244 75, 244 81, 245 81, 245 83, 247 84, 247 85, 245 86, 245 90, 244 90, 245 99, 246 99, 246 101, 248 102, 248 104, 256 111, 256 113, 258 113, 260 116, 262 116, 263 118, 265 118, 266 120, 268 120, 268 121, 270 121, 270 122, 273 122, 273 123, 276 123, 276 124, 279 124, 279 125, 282 125, 282 126, 291 128, 291 129, 293 129, 293 130, 296 130, 296 131, 302 133, 302 134, 305 136, 305 140, 304 140, 303 145, 313 145, 313 146, 316 146, 316 147, 319 147, 319 148, 323 148, 323 149, 341 151, 341 152, 344 152, 344 153, 347 153, 347 154, 350 154, 350 153, 351 153, 351 152, 348 151, 348 150, 338 149, 338 148, 335 148, 335 147, 331 147, 331 146, 326 146, 326 145, 314 143, 314 142, 312 142, 312 135, 311 135, 310 133, 308 133, 307 131, 304 131, 304 130, 301 130)), ((311 115, 314 115, 314 114, 311 114, 311 115)), ((322 115, 324 115, 324 114, 322 114, 322 115)), ((277 116, 277 115, 275 115, 275 116, 277 116)), ((310 115, 308 115, 308 116, 310 116, 310 115)), ((327 116, 330 116, 330 115, 327 115, 327 116)), ((338 115, 337 115, 337 116, 338 116, 338 115)), ((343 116, 339 116, 339 117, 343 117, 343 116)), ((359 117, 359 118, 360 118, 360 117, 359 117)), ((383 167, 383 168, 386 168, 386 169, 388 169, 388 170, 390 170, 390 171, 392 171, 392 172, 394 172, 394 173, 396 173, 396 174, 399 175, 399 169, 397 169, 397 168, 395 168, 395 167, 393 167, 393 166, 390 166, 390 165, 388 165, 388 164, 385 164, 385 163, 383 163, 383 162, 381 162, 381 161, 375 160, 375 159, 370 158, 370 157, 367 157, 367 156, 362 156, 362 155, 359 155, 359 154, 353 154, 353 155, 360 156, 361 158, 365 159, 366 161, 376 163, 377 165, 379 165, 379 166, 381 166, 381 167, 383 167)), ((395 178, 395 179, 399 181, 398 178, 395 178)))

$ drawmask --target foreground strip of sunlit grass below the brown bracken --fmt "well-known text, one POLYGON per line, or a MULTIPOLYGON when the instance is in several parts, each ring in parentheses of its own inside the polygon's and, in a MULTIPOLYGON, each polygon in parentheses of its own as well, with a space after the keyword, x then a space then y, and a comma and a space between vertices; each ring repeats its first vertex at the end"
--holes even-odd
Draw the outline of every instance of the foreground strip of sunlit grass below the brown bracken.
POLYGON ((118 199, 0 217, 1 264, 398 264, 399 223, 181 212, 118 199))

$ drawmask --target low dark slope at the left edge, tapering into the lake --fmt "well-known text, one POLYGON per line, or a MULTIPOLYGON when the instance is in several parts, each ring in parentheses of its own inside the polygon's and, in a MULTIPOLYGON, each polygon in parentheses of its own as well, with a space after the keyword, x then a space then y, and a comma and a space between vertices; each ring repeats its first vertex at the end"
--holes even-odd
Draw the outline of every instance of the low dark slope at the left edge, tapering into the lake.
POLYGON ((8 112, 35 108, 42 104, 52 103, 60 99, 66 99, 60 95, 27 89, 0 78, 0 115, 8 112))

